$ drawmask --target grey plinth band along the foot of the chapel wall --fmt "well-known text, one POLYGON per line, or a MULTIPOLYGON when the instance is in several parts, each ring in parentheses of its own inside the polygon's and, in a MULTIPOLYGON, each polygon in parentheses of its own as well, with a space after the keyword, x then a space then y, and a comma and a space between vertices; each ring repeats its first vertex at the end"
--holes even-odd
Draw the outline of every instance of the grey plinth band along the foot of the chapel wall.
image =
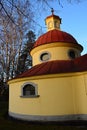
POLYGON ((24 121, 87 121, 87 114, 73 114, 73 115, 25 115, 9 112, 9 116, 24 121))

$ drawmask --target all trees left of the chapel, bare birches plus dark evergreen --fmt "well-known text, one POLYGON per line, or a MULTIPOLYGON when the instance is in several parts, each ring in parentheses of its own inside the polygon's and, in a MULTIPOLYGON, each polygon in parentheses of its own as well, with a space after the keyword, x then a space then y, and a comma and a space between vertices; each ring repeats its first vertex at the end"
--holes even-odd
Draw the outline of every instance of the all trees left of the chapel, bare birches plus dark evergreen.
MULTIPOLYGON (((81 0, 65 1, 68 3, 79 3, 81 0)), ((32 31, 29 32, 29 30, 34 25, 41 27, 34 20, 34 13, 36 15, 39 12, 39 5, 40 10, 44 6, 42 11, 44 11, 45 7, 51 9, 50 2, 57 2, 60 6, 63 5, 62 0, 0 0, 1 93, 4 92, 5 82, 8 79, 15 77, 32 66, 32 58, 29 55, 29 51, 35 41, 35 34, 32 31), (26 44, 24 45, 24 43, 26 44)))

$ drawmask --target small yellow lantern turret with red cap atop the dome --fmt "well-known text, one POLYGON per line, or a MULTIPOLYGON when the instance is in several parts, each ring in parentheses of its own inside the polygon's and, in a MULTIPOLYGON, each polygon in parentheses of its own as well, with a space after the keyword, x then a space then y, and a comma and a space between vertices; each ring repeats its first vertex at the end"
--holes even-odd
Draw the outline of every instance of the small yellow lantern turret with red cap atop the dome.
POLYGON ((58 29, 60 30, 61 18, 59 16, 54 15, 54 10, 51 10, 52 15, 48 16, 45 19, 45 23, 47 25, 47 31, 58 29))

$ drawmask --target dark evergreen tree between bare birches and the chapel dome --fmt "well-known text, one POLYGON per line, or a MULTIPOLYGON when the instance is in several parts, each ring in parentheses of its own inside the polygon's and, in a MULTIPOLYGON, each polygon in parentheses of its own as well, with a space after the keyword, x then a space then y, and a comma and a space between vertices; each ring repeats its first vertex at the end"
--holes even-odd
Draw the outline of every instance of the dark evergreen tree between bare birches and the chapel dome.
POLYGON ((17 69, 18 71, 16 74, 23 73, 24 71, 28 70, 32 66, 32 58, 31 58, 29 52, 33 47, 33 43, 35 42, 36 35, 32 30, 30 30, 26 34, 26 36, 27 36, 27 41, 26 41, 26 44, 24 45, 22 54, 19 57, 18 69, 17 69))

